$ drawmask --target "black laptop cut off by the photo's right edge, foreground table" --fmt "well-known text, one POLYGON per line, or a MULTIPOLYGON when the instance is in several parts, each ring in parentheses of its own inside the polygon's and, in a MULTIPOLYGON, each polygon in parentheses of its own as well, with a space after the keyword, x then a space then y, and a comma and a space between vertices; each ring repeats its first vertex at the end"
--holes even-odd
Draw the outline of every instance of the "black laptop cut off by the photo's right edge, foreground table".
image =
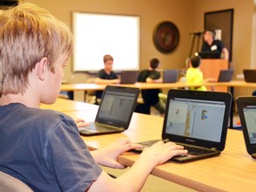
POLYGON ((236 99, 246 150, 256 159, 256 97, 238 97, 236 99))

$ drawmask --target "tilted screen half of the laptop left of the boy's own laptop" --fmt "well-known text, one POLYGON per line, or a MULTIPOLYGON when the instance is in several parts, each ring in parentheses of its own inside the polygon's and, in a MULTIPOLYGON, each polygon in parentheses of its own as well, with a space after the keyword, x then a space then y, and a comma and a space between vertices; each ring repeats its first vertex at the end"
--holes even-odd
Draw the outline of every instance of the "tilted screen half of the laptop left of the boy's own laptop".
POLYGON ((128 127, 138 94, 137 89, 109 86, 101 99, 95 122, 128 127))

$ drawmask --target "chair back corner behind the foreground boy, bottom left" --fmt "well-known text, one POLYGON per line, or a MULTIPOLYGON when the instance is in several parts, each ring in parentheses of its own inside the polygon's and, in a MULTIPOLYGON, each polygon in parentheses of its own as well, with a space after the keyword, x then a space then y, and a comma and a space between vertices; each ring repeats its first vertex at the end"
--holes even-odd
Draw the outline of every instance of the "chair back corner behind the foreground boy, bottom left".
POLYGON ((0 192, 30 192, 31 188, 22 181, 0 171, 0 192))

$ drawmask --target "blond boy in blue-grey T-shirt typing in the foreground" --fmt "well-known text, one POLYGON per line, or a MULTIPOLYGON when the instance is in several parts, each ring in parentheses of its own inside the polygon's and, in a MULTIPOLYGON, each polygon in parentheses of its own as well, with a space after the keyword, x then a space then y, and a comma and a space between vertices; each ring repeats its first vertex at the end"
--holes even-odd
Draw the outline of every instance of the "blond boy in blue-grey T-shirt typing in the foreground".
POLYGON ((120 178, 104 172, 99 164, 123 169, 117 156, 140 145, 122 139, 90 152, 69 116, 39 108, 57 99, 72 50, 70 29, 35 4, 1 13, 0 171, 33 191, 139 191, 157 164, 187 150, 158 142, 120 178))

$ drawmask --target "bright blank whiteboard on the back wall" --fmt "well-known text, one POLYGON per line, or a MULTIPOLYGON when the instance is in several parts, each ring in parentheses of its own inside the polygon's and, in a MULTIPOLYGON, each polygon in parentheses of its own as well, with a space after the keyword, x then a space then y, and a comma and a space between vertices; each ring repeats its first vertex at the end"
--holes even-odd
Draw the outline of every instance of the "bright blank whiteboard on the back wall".
POLYGON ((99 71, 105 54, 115 71, 139 70, 140 17, 73 12, 72 22, 74 71, 99 71))

